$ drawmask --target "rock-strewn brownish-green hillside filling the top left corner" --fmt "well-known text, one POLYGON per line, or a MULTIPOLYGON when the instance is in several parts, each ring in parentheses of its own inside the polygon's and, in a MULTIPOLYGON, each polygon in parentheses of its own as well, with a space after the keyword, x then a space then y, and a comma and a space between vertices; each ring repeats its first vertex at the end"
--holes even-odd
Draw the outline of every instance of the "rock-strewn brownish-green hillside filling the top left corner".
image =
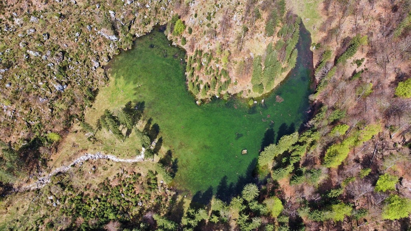
POLYGON ((0 134, 14 148, 64 134, 106 83, 102 67, 156 24, 168 1, 2 1, 0 134))

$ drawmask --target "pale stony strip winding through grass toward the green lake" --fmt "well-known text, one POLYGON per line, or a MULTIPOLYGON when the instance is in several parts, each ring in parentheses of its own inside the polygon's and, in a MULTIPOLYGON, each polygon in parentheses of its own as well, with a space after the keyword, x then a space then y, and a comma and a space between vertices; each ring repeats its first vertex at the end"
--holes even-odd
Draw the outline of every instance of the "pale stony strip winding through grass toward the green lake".
POLYGON ((75 159, 71 164, 65 166, 61 166, 57 169, 54 169, 53 171, 51 171, 51 173, 49 173, 48 175, 39 178, 36 182, 30 184, 30 185, 26 185, 20 188, 17 188, 16 191, 17 192, 23 192, 23 191, 30 191, 30 190, 35 190, 35 189, 41 189, 42 187, 44 187, 44 185, 50 183, 51 177, 54 176, 57 173, 65 173, 67 172, 70 168, 72 168, 73 166, 76 166, 77 164, 81 164, 82 162, 85 162, 86 160, 89 159, 109 159, 112 160, 114 162, 125 162, 125 163, 134 163, 134 162, 141 162, 144 160, 144 151, 145 149, 143 148, 143 151, 141 152, 141 155, 136 156, 135 159, 120 159, 117 158, 113 155, 105 155, 101 152, 97 152, 96 154, 89 154, 86 153, 84 155, 82 155, 81 157, 75 159))

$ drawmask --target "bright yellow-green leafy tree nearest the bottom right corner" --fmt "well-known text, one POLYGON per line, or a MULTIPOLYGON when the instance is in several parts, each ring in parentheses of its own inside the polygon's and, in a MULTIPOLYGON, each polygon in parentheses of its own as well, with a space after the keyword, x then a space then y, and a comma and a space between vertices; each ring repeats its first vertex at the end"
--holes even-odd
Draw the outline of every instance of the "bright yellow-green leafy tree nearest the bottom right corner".
POLYGON ((386 200, 386 205, 383 207, 383 219, 400 219, 408 217, 411 213, 411 200, 402 198, 398 195, 391 195, 386 200))

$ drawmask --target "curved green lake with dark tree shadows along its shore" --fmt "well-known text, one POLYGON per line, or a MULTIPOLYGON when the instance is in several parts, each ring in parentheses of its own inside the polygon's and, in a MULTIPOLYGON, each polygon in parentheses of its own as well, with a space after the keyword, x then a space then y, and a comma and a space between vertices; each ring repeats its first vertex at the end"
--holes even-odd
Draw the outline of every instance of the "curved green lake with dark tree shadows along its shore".
POLYGON ((294 132, 305 118, 311 39, 302 26, 296 67, 263 104, 260 99, 252 108, 247 100, 234 98, 197 106, 186 90, 185 63, 180 60, 185 53, 169 44, 159 31, 137 39, 132 50, 111 62, 111 74, 136 85, 129 100, 144 101, 145 117, 159 125, 163 146, 178 159, 173 184, 193 193, 208 189, 206 194, 228 195, 236 182, 249 180, 261 147, 294 132), (276 102, 276 95, 284 101, 276 102), (248 150, 246 155, 241 154, 243 149, 248 150))

